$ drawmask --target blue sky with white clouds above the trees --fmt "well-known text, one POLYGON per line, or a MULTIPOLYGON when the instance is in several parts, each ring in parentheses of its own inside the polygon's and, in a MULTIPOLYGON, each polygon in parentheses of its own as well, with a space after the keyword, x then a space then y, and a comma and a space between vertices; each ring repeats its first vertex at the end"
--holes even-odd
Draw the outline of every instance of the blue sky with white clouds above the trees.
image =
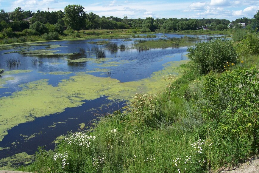
POLYGON ((225 18, 230 21, 237 18, 253 18, 259 10, 258 0, 0 0, 0 9, 64 11, 69 4, 79 4, 87 13, 93 12, 100 17, 114 16, 123 18, 225 18), (54 8, 54 9, 53 9, 54 8))

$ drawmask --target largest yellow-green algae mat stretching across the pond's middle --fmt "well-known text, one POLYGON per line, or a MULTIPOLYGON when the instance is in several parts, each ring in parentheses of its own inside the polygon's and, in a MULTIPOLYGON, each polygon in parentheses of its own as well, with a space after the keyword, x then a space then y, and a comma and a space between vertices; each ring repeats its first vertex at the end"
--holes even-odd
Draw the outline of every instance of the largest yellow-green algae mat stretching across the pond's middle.
POLYGON ((110 101, 130 100, 136 93, 157 93, 166 86, 163 75, 180 73, 177 67, 186 61, 170 62, 151 77, 121 83, 113 78, 101 78, 83 72, 62 80, 58 86, 47 79, 20 85, 21 91, 0 98, 0 141, 7 130, 35 120, 35 118, 63 112, 65 108, 82 105, 84 100, 94 100, 105 95, 110 101), (174 72, 173 71, 177 71, 174 72), (26 106, 24 106, 26 105, 26 106))

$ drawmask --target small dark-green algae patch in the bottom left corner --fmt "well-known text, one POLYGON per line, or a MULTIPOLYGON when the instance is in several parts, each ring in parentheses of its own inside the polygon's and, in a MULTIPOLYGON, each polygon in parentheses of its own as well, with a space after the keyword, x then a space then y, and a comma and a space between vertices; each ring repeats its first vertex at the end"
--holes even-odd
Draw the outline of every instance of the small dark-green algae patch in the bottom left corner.
POLYGON ((25 152, 15 154, 10 157, 0 159, 0 170, 15 170, 18 165, 29 164, 32 162, 34 155, 28 155, 25 152))

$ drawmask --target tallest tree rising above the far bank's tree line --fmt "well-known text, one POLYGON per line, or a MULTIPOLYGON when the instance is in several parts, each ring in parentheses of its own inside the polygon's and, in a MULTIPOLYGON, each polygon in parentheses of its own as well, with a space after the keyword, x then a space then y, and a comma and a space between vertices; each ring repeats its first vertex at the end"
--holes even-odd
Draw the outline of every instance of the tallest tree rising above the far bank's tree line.
POLYGON ((84 11, 84 7, 81 5, 68 5, 65 7, 65 24, 70 27, 72 30, 77 30, 79 32, 80 29, 85 27, 86 25, 86 14, 84 11))

